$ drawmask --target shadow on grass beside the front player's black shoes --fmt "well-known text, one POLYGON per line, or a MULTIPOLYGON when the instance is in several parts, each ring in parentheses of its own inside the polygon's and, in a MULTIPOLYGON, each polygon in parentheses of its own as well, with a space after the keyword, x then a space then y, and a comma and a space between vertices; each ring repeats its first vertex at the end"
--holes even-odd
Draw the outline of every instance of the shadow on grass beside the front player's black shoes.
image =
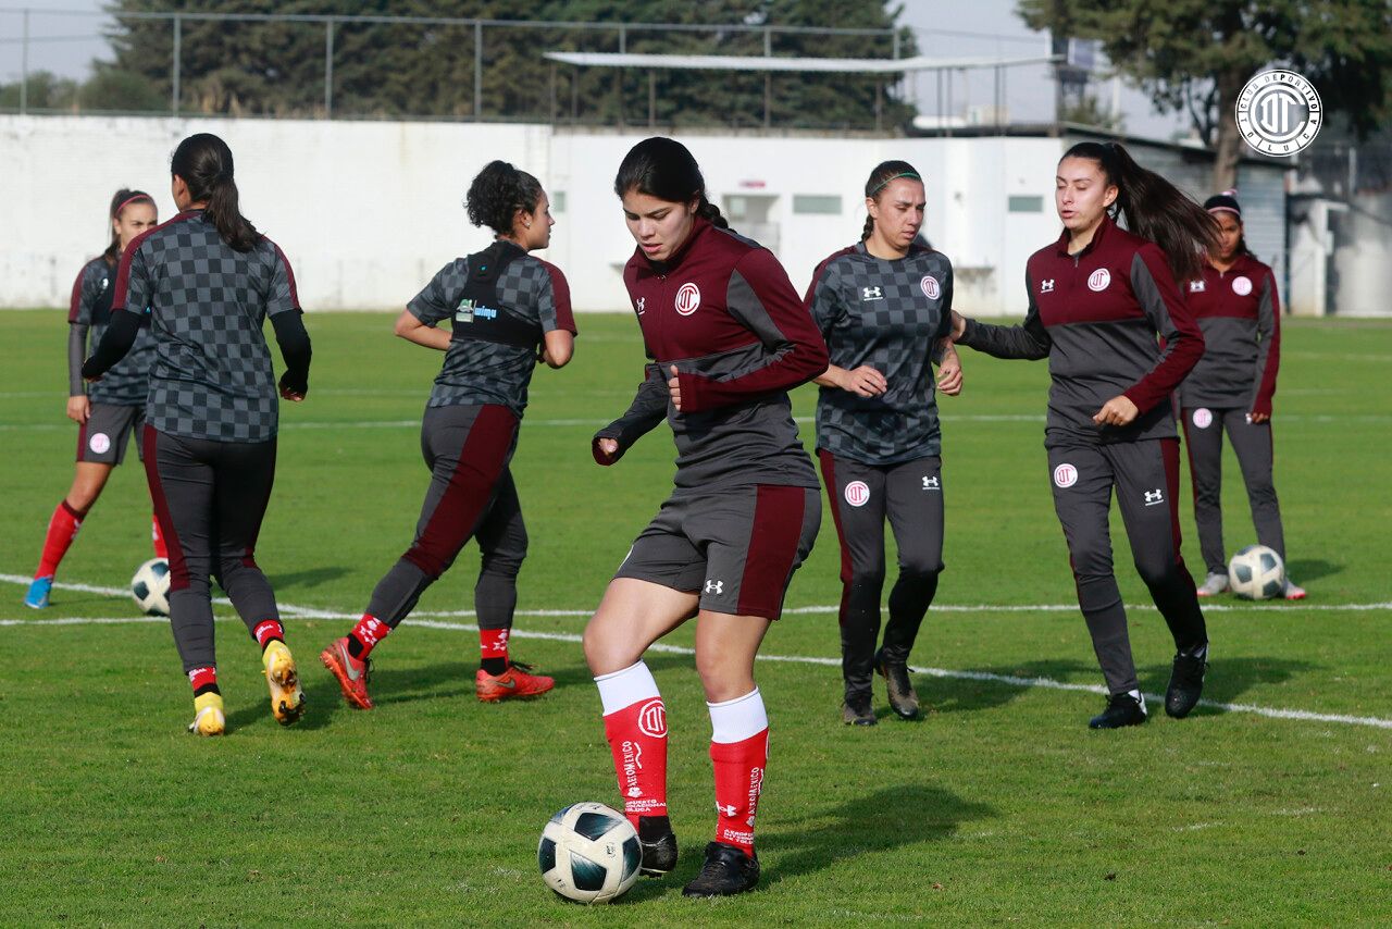
POLYGON ((809 875, 844 858, 942 841, 962 823, 995 816, 995 809, 928 784, 895 784, 830 809, 788 820, 759 836, 771 866, 770 884, 809 875))

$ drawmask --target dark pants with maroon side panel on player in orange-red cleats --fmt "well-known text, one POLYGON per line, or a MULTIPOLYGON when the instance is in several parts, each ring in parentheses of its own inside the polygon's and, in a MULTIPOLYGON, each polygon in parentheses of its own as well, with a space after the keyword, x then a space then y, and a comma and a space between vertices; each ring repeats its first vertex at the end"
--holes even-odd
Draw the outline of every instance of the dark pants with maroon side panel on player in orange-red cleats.
POLYGON ((377 582, 367 613, 395 628, 426 588, 450 570, 470 538, 483 565, 473 588, 479 628, 512 627, 516 578, 526 559, 526 526, 508 461, 518 418, 503 405, 426 409, 420 453, 430 468, 416 538, 377 582))

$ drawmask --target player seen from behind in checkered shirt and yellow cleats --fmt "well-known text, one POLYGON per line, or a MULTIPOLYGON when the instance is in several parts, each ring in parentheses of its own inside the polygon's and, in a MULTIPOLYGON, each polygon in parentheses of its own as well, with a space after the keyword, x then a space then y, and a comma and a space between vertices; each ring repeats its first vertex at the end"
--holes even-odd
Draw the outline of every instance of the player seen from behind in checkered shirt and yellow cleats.
POLYGON ((277 721, 305 710, 276 595, 256 565, 256 535, 276 476, 278 404, 262 325, 285 359, 280 396, 309 390, 309 336, 280 248, 241 214, 232 153, 216 135, 180 142, 170 162, 180 213, 121 256, 111 325, 82 376, 129 351, 150 308, 156 358, 145 408, 145 472, 170 549, 170 624, 193 685, 189 731, 226 728, 209 575, 262 648, 277 721))

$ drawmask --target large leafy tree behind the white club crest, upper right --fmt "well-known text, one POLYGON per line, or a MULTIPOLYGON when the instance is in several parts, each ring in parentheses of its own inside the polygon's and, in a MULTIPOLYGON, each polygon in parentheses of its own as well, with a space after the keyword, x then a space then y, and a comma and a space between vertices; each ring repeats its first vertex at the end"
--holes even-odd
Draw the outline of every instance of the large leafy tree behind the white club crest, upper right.
POLYGON ((1112 67, 1161 110, 1187 111, 1215 149, 1214 189, 1233 187, 1243 85, 1267 67, 1310 79, 1327 114, 1366 135, 1392 117, 1392 6, 1386 0, 1020 0, 1033 29, 1098 39, 1112 67))

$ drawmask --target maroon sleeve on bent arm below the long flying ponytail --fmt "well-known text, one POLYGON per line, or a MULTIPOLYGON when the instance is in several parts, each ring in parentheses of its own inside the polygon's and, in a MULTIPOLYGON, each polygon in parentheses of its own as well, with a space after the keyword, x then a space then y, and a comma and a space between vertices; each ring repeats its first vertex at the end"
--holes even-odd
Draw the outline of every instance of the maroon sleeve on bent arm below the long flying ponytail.
POLYGON ((1147 242, 1136 251, 1130 272, 1132 292, 1160 334, 1160 361, 1144 377, 1123 391, 1140 412, 1169 398, 1179 382, 1204 355, 1204 334, 1189 304, 1175 287, 1165 253, 1147 242))

